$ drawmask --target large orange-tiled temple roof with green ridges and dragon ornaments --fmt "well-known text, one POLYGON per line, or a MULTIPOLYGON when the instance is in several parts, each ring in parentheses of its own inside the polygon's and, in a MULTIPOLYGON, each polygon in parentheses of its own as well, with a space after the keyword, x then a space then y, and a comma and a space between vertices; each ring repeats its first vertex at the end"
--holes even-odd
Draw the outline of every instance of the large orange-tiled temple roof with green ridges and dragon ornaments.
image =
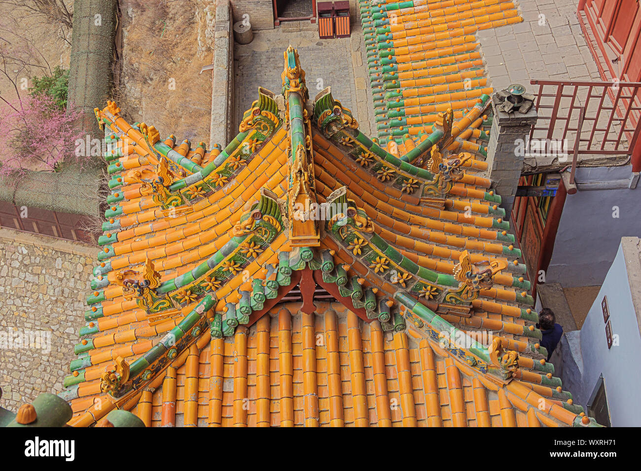
POLYGON ((449 151, 488 95, 394 155, 283 58, 224 149, 96 109, 112 194, 69 424, 594 425, 545 362, 487 164, 449 151))

